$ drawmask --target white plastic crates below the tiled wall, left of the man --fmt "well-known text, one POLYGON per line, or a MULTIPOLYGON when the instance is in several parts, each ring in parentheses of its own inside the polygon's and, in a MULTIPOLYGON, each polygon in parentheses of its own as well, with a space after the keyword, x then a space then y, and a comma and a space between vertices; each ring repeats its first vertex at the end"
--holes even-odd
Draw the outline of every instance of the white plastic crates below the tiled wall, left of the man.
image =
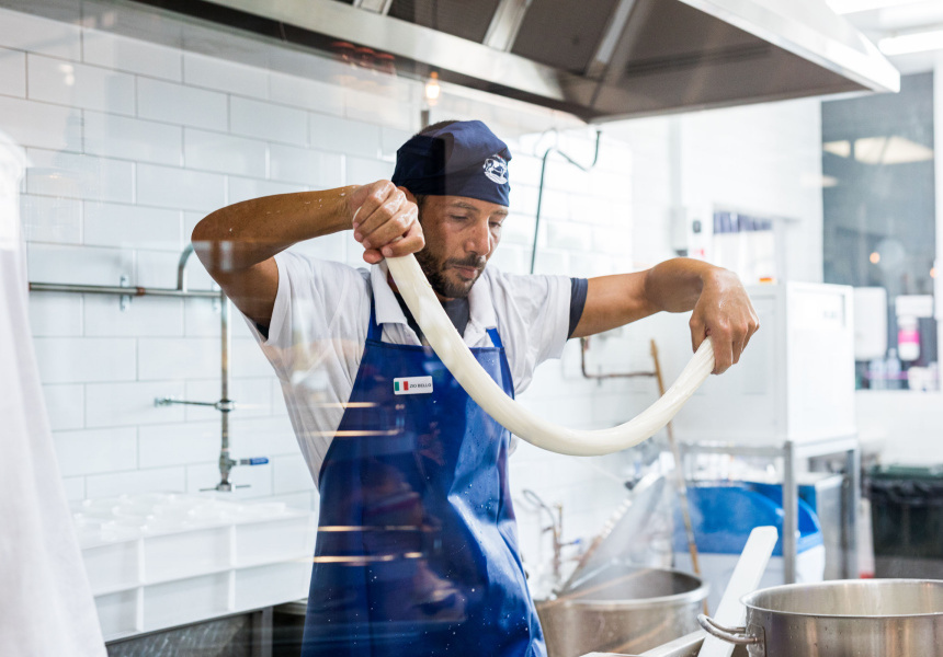
POLYGON ((307 596, 311 512, 152 493, 72 511, 106 641, 307 596))

